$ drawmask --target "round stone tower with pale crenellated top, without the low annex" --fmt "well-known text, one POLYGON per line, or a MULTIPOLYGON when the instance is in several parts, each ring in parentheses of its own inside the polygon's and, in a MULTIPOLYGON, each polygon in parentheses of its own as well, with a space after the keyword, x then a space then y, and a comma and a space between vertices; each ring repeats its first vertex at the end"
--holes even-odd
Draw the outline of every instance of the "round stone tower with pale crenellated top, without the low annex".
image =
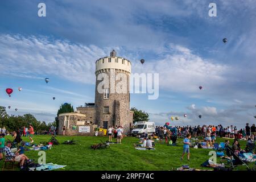
POLYGON ((96 61, 96 124, 100 127, 107 129, 109 126, 123 126, 125 133, 129 131, 133 123, 133 112, 130 111, 130 73, 131 62, 117 57, 114 50, 110 56, 96 61), (108 84, 103 85, 105 81, 108 84))

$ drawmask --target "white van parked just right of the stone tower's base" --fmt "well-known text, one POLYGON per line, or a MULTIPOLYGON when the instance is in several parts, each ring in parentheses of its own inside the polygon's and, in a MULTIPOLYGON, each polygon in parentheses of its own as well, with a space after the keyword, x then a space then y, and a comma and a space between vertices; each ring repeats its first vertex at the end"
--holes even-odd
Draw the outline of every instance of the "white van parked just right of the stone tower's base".
POLYGON ((134 123, 134 129, 131 131, 131 135, 141 135, 147 133, 152 135, 155 132, 155 123, 148 121, 138 121, 134 123))

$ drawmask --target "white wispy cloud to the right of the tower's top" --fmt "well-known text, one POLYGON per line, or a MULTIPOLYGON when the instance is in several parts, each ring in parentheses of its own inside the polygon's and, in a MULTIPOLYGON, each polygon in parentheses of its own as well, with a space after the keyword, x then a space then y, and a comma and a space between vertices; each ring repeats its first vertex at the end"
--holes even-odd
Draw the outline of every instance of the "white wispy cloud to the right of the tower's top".
POLYGON ((225 74, 231 70, 230 66, 205 60, 186 47, 170 44, 163 59, 146 61, 143 67, 136 63, 133 72, 159 73, 159 85, 170 91, 198 93, 202 85, 201 93, 211 93, 228 81, 225 74))

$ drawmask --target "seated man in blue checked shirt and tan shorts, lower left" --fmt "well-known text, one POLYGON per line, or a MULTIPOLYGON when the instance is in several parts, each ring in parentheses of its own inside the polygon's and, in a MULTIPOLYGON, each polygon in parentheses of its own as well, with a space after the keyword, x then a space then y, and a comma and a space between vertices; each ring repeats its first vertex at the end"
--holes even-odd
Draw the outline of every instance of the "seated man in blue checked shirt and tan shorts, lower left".
POLYGON ((6 160, 13 160, 15 162, 19 162, 20 163, 20 169, 23 169, 23 165, 24 165, 24 162, 25 160, 28 160, 28 162, 31 162, 30 159, 28 159, 28 157, 24 154, 19 154, 18 151, 15 152, 11 152, 11 143, 8 142, 6 143, 6 146, 5 148, 3 148, 3 152, 5 152, 5 157, 6 157, 6 160))

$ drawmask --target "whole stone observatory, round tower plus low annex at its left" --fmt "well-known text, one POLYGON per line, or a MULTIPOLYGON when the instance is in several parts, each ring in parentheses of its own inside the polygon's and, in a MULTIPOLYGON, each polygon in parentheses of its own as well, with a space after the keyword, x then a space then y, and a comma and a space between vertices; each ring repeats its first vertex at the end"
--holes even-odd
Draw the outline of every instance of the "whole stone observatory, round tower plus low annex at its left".
POLYGON ((94 127, 97 126, 103 129, 123 126, 124 133, 127 133, 133 123, 133 111, 130 110, 130 74, 131 62, 118 57, 114 50, 110 52, 110 56, 96 60, 95 103, 85 103, 73 113, 60 114, 59 134, 62 134, 64 125, 66 135, 93 135, 94 127), (122 91, 126 92, 118 92, 120 81, 122 91), (107 84, 102 84, 103 82, 107 84), (89 130, 89 125, 90 132, 84 132, 89 130))

